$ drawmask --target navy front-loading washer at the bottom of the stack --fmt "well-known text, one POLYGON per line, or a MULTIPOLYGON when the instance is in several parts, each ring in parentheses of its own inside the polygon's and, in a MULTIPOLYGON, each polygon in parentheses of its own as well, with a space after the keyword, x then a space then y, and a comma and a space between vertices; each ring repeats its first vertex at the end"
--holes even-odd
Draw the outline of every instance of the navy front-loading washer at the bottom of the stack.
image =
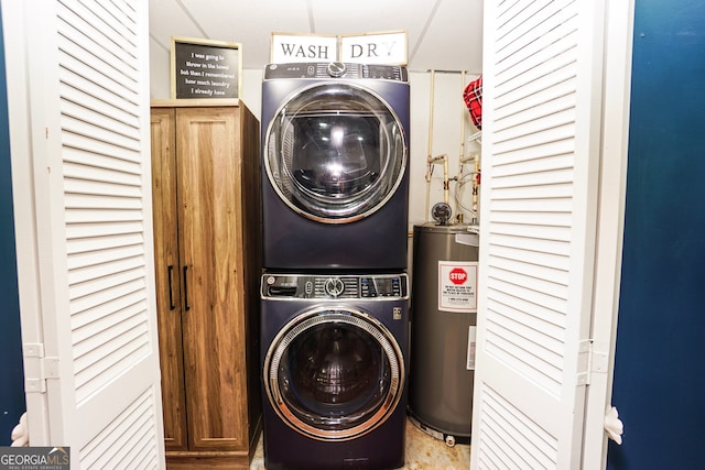
POLYGON ((406 274, 264 274, 264 466, 404 463, 406 274))

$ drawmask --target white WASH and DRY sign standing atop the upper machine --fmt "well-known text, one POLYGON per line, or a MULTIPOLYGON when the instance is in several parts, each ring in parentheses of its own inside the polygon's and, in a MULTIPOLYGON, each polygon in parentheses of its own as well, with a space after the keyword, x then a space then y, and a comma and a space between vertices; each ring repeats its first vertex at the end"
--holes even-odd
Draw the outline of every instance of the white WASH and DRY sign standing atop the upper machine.
POLYGON ((406 32, 341 36, 272 33, 270 62, 348 62, 406 65, 406 32))

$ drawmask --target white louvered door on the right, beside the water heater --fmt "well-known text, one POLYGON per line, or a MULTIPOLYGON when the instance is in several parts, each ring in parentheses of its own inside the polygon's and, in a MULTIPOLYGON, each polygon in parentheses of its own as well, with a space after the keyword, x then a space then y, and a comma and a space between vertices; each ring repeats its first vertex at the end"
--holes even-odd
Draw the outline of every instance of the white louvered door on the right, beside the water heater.
POLYGON ((603 9, 485 2, 474 469, 581 466, 603 9))

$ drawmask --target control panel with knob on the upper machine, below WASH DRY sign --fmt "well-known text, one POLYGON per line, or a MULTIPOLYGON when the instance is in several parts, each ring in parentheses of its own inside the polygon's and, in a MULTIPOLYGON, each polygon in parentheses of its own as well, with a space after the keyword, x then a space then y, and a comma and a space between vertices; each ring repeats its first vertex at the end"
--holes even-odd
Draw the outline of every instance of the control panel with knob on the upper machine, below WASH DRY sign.
POLYGON ((264 79, 279 78, 344 78, 409 81, 406 67, 402 65, 352 64, 343 62, 314 62, 269 64, 264 79))

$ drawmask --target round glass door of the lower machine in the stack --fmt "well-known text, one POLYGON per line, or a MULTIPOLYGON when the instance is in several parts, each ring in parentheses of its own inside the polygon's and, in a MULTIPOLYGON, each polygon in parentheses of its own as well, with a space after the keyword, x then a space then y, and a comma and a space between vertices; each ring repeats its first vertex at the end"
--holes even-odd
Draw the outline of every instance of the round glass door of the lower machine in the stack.
POLYGON ((292 429, 348 440, 392 414, 403 392, 404 361, 377 319, 352 308, 319 307, 282 328, 263 374, 269 402, 292 429))

